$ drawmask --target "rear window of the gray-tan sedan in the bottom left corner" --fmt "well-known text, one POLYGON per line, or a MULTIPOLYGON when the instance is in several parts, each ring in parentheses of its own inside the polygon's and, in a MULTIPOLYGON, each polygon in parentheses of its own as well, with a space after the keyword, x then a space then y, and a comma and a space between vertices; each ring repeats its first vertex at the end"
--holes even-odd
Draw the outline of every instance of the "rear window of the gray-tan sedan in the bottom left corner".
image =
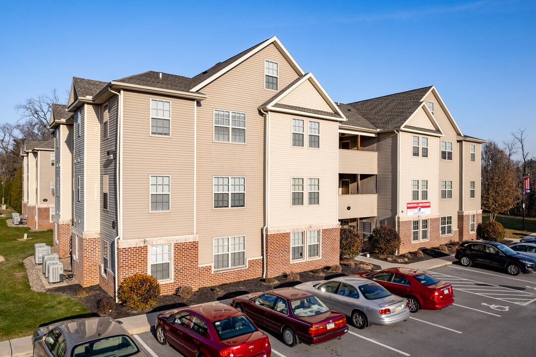
POLYGON ((126 335, 93 340, 72 349, 72 357, 125 357, 138 353, 138 346, 126 335))

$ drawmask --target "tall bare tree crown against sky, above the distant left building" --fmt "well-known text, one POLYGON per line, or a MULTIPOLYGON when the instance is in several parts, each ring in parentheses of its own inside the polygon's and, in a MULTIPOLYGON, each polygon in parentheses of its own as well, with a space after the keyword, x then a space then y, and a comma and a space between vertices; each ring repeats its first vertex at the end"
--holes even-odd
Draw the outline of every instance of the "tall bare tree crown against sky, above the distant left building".
POLYGON ((53 103, 59 103, 56 88, 50 94, 41 94, 28 98, 24 103, 15 106, 20 115, 19 131, 27 140, 50 140, 52 136, 48 129, 48 116, 53 103))

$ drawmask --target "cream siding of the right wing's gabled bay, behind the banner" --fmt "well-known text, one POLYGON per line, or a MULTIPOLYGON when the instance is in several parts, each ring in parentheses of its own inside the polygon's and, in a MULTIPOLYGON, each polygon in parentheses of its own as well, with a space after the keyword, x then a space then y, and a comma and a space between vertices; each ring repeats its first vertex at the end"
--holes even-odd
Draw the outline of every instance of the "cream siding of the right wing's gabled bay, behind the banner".
MULTIPOLYGON (((411 202, 430 202, 430 214, 436 215, 438 210, 438 192, 440 190, 440 180, 437 174, 437 160, 439 152, 437 148, 437 140, 434 137, 428 138, 428 157, 422 156, 414 157, 412 155, 413 136, 415 134, 411 132, 400 132, 400 212, 401 217, 407 216, 407 203, 411 202), (419 181, 419 199, 413 200, 412 198, 412 181, 419 181), (422 180, 428 181, 428 199, 422 199, 421 196, 421 183, 422 180)), ((419 143, 423 136, 419 136, 419 143)), ((426 137, 426 136, 425 136, 426 137)), ((421 152, 419 151, 419 154, 421 152)), ((448 179, 450 180, 450 178, 448 179)), ((452 199, 454 197, 454 191, 452 191, 452 199)), ((413 215, 415 219, 426 219, 426 214, 421 216, 413 215)))

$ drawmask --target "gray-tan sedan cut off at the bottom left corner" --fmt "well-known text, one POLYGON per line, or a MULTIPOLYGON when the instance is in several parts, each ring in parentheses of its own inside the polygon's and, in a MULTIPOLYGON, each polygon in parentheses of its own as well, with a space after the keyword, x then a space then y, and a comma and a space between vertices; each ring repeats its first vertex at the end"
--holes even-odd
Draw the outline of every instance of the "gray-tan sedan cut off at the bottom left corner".
POLYGON ((110 317, 79 318, 35 330, 33 357, 147 357, 110 317))

